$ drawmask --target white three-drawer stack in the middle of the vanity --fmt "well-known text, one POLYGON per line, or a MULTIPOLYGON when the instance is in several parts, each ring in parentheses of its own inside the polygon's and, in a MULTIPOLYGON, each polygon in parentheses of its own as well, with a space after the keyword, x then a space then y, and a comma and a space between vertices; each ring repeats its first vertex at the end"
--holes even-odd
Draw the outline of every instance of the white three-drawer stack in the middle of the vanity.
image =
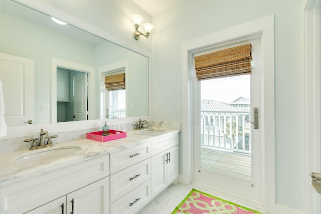
POLYGON ((110 154, 110 213, 135 213, 150 199, 150 141, 110 154))

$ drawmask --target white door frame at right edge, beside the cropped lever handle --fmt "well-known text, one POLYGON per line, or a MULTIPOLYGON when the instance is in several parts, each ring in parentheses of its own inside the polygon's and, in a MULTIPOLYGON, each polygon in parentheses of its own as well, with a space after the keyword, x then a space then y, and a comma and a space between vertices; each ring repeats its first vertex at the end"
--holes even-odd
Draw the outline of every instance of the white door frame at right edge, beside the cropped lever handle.
POLYGON ((318 194, 309 182, 309 172, 321 173, 321 0, 305 0, 302 4, 302 157, 305 161, 302 172, 304 213, 321 212, 321 194, 318 194))

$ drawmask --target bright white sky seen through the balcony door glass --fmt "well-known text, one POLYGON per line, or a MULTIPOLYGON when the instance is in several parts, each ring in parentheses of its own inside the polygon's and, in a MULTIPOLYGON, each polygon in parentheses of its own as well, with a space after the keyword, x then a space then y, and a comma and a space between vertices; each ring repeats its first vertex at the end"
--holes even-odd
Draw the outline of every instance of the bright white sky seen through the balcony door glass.
POLYGON ((250 75, 201 81, 201 99, 230 103, 239 97, 250 100, 250 75))

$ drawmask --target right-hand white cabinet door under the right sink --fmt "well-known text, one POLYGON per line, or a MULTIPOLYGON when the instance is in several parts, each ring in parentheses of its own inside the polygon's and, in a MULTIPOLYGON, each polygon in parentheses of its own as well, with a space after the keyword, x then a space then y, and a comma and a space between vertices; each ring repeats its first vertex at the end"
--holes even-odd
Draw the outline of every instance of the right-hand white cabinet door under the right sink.
POLYGON ((179 176, 179 146, 167 150, 167 185, 172 183, 179 176))

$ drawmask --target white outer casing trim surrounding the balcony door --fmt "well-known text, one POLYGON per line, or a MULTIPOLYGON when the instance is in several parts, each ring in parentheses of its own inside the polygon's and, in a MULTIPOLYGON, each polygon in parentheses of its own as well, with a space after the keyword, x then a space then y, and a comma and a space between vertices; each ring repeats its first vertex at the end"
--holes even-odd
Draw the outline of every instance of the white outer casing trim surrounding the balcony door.
POLYGON ((182 174, 179 181, 193 181, 193 53, 203 47, 260 35, 262 49, 262 206, 275 213, 275 129, 274 129, 274 15, 224 29, 182 44, 182 174))

